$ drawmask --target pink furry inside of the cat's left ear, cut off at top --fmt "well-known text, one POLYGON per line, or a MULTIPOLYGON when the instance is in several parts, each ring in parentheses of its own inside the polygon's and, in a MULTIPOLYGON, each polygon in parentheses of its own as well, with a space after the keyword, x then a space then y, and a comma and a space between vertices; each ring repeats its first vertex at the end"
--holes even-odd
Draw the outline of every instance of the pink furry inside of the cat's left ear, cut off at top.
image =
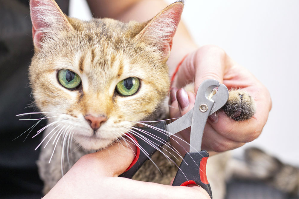
POLYGON ((73 30, 54 0, 30 0, 32 37, 36 48, 52 40, 60 31, 73 30))

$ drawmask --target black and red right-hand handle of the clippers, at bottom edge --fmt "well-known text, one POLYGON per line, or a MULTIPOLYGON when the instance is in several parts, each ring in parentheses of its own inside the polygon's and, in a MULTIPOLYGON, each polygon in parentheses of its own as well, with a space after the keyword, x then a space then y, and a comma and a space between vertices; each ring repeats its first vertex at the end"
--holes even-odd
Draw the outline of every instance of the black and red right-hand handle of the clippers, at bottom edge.
POLYGON ((208 192, 210 198, 213 198, 206 174, 208 157, 209 153, 207 151, 187 152, 172 185, 187 186, 188 184, 197 184, 208 192))

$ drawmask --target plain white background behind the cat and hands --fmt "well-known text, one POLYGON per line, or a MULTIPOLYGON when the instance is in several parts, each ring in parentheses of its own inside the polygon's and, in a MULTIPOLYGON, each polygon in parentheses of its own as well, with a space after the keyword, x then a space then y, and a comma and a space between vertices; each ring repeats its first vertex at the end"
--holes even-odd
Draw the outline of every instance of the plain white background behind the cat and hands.
MULTIPOLYGON (((91 18, 85 0, 71 0, 70 15, 91 18)), ((299 166, 299 1, 186 0, 182 17, 198 45, 222 47, 270 91, 272 110, 262 134, 234 154, 258 146, 299 166)))

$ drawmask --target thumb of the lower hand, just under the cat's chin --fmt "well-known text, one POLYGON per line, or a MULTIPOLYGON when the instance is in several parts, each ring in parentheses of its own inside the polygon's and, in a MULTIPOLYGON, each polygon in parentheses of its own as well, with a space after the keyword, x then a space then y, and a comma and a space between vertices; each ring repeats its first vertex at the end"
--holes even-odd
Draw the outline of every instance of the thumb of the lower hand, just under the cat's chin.
POLYGON ((130 166, 135 158, 135 152, 134 144, 122 140, 107 149, 84 155, 71 169, 85 167, 99 175, 116 177, 130 166))

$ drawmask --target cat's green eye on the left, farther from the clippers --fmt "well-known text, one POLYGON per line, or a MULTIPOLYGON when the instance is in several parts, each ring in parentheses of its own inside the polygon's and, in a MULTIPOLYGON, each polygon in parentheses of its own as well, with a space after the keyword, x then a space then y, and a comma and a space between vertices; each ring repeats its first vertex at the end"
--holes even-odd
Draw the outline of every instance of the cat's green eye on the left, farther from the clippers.
POLYGON ((60 84, 67 89, 75 89, 81 83, 81 78, 77 73, 65 69, 58 71, 58 80, 60 84))

